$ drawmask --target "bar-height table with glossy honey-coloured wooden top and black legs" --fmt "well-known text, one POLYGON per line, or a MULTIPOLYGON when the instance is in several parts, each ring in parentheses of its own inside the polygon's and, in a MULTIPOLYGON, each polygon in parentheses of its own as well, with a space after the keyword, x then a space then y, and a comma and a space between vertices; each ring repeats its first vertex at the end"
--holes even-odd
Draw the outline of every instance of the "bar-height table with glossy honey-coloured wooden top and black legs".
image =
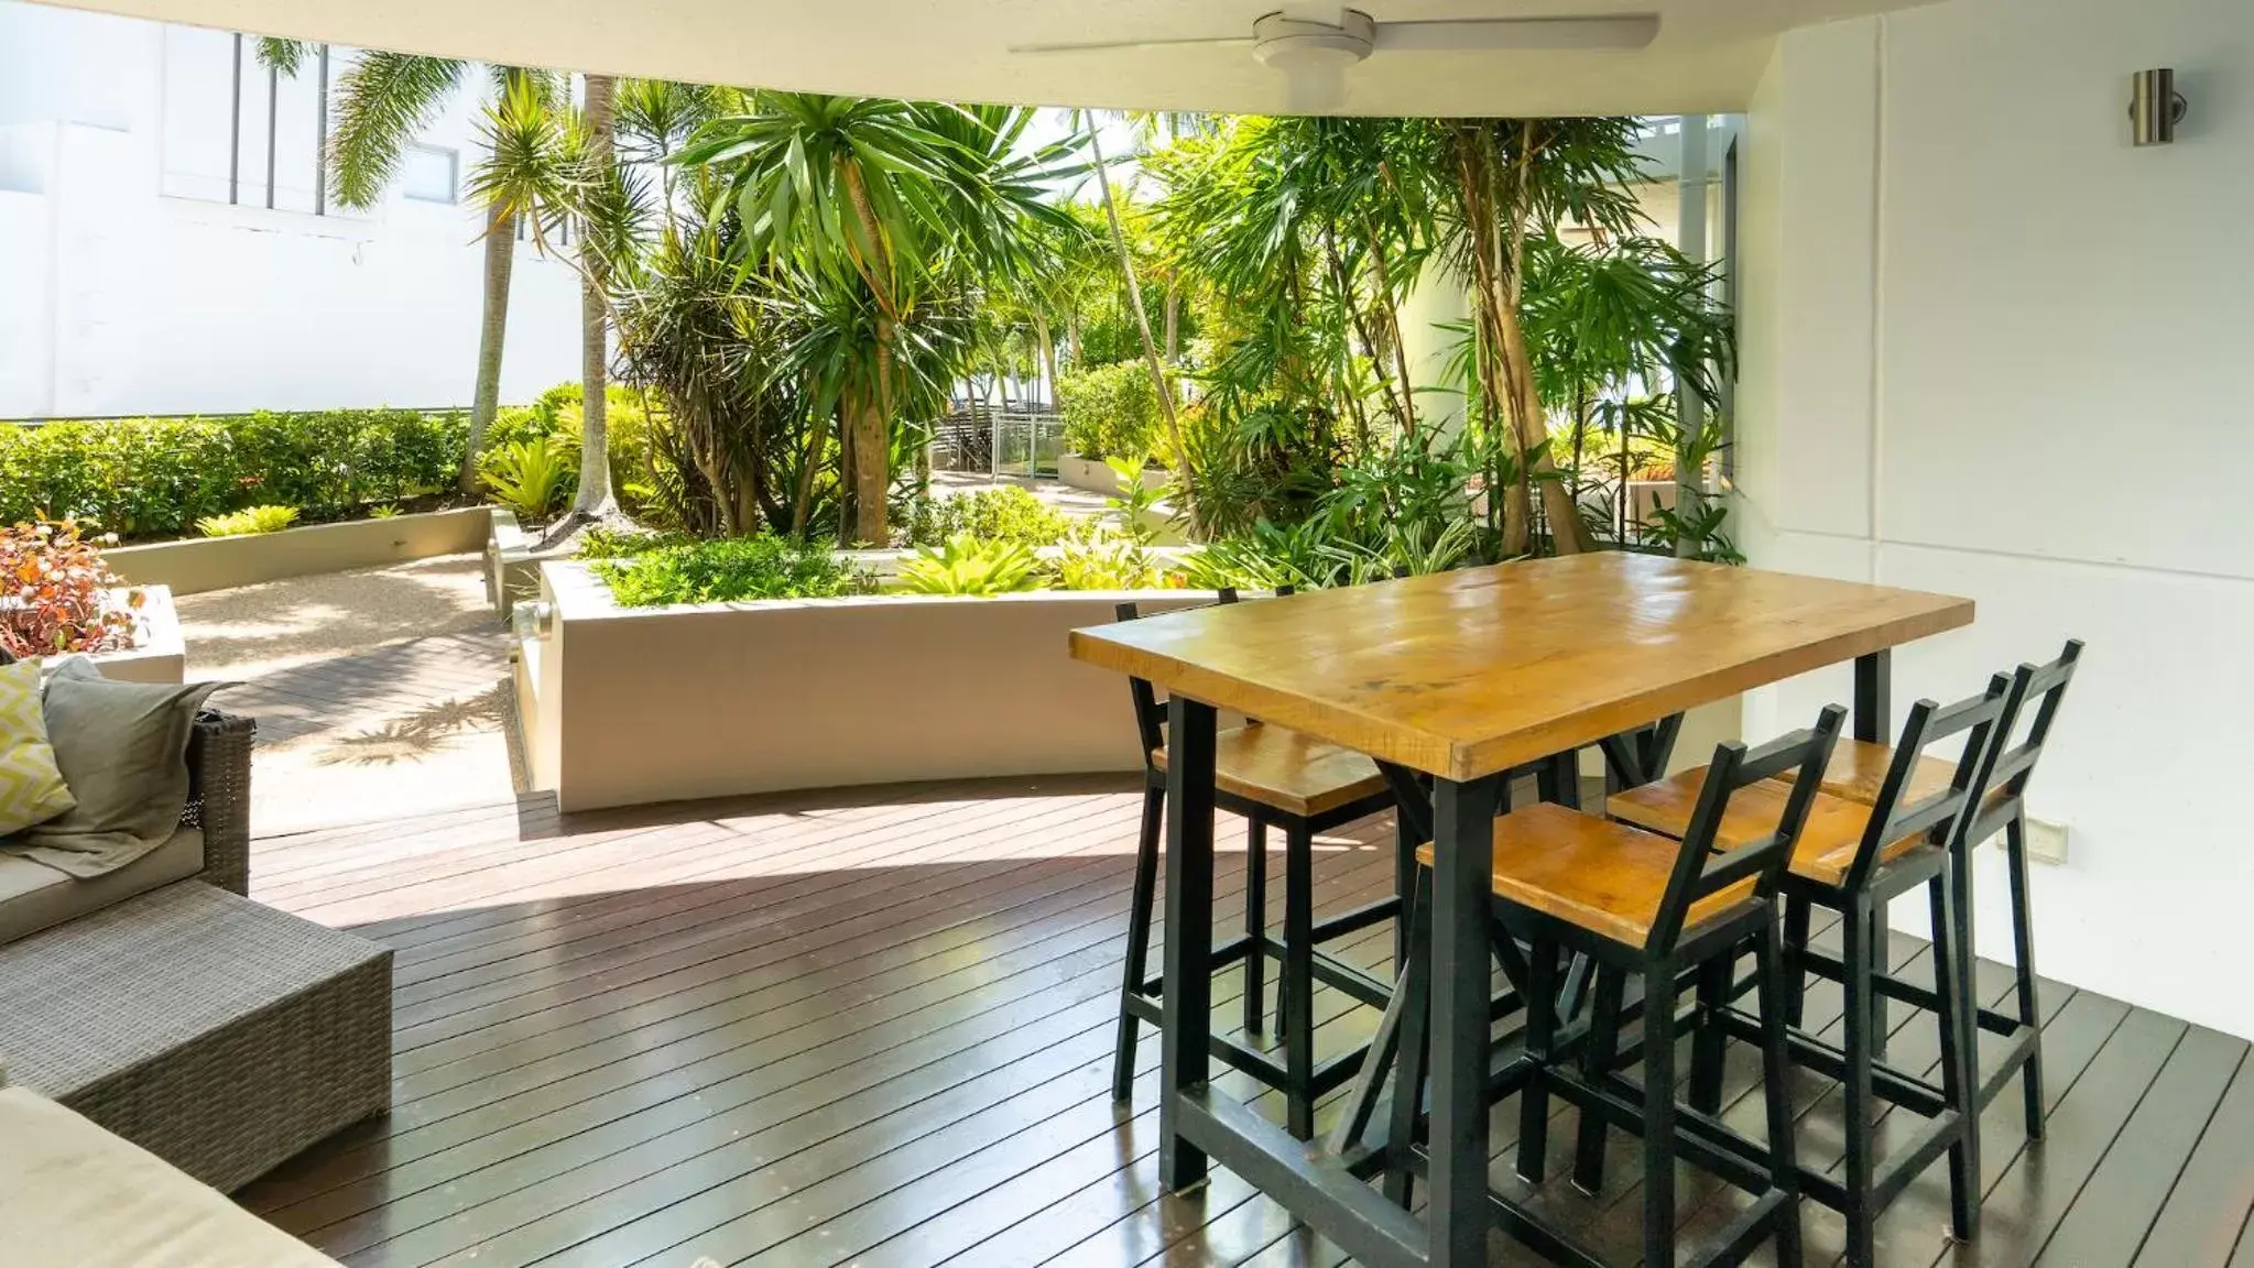
POLYGON ((1210 1155, 1364 1263, 1485 1263, 1499 773, 1844 660, 1855 660, 1855 734, 1884 743, 1889 649, 1970 622, 1970 599, 1607 552, 1073 631, 1073 658, 1170 696, 1165 1185, 1197 1185, 1210 1155), (1425 1221, 1210 1090, 1217 709, 1434 777, 1425 1221))

